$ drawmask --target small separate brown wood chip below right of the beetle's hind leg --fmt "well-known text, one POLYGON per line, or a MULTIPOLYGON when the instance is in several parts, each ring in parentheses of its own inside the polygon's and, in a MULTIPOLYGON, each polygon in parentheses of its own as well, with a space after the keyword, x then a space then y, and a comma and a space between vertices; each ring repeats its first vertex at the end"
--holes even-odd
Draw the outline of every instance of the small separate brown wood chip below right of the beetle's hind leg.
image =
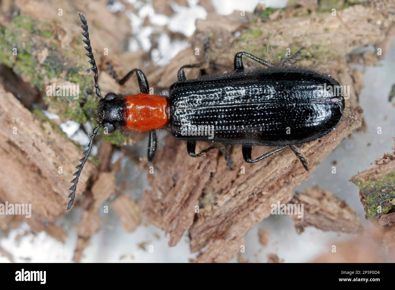
POLYGON ((324 232, 347 234, 357 234, 363 230, 359 215, 354 208, 318 186, 306 188, 304 193, 296 192, 291 203, 303 204, 303 217, 291 215, 299 234, 307 226, 314 226, 324 232))

